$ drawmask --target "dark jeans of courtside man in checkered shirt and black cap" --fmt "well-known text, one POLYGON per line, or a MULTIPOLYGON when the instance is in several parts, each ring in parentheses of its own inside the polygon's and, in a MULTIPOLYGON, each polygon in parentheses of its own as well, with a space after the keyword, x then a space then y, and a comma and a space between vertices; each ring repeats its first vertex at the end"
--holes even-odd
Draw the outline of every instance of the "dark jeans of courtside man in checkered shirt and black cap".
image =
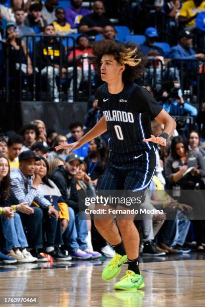
POLYGON ((26 237, 31 248, 43 248, 42 237, 42 220, 43 210, 38 207, 32 207, 34 209, 33 214, 19 213, 21 216, 22 224, 26 227, 26 237))

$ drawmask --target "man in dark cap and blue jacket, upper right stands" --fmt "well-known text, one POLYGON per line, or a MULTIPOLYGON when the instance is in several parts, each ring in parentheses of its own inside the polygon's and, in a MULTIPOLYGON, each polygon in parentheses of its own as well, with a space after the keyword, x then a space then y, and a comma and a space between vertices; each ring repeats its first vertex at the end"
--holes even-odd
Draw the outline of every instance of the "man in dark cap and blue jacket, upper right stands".
POLYGON ((169 57, 170 59, 204 59, 203 53, 195 53, 192 42, 193 36, 186 30, 182 30, 178 34, 178 44, 171 48, 169 57))

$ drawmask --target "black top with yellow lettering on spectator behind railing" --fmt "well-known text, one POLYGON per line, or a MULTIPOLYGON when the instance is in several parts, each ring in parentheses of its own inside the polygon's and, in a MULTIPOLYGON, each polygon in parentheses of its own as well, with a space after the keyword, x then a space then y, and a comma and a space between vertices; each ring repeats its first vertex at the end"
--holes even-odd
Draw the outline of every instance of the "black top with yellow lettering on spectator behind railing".
POLYGON ((56 39, 53 43, 49 43, 48 38, 45 37, 36 43, 36 65, 39 70, 46 66, 60 65, 60 57, 62 57, 62 67, 67 67, 67 60, 65 55, 65 47, 56 39))

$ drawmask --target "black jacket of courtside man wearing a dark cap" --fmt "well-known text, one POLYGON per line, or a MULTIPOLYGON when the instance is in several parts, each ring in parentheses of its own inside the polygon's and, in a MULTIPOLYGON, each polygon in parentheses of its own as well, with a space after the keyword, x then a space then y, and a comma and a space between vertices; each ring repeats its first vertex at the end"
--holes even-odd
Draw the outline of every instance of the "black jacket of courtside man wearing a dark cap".
POLYGON ((62 165, 54 169, 51 180, 56 184, 65 203, 72 209, 78 209, 78 195, 75 178, 68 178, 68 173, 62 165))

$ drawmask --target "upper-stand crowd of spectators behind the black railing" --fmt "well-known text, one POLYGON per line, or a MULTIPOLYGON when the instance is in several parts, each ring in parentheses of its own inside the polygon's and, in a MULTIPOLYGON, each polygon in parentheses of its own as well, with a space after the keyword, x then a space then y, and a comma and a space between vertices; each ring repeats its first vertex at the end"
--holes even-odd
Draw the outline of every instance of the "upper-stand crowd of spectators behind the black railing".
MULTIPOLYGON (((154 87, 166 80, 184 84, 187 83, 184 80, 188 80, 184 79, 185 75, 190 74, 191 80, 185 87, 183 85, 183 89, 190 90, 192 96, 199 95, 195 83, 198 73, 204 74, 204 1, 128 0, 119 2, 116 8, 114 3, 97 0, 89 9, 84 7, 82 0, 71 0, 67 7, 65 4, 66 0, 63 7, 62 1, 59 3, 58 0, 46 0, 45 3, 1 1, 0 53, 9 58, 9 93, 13 99, 20 99, 20 82, 22 90, 26 88, 32 93, 34 79, 37 89, 34 100, 73 102, 76 99, 74 88, 78 94, 82 93, 82 100, 88 96, 88 89, 89 95, 90 88, 94 93, 100 81, 94 66, 89 67, 91 45, 98 39, 125 42, 126 36, 122 38, 121 33, 124 30, 117 31, 116 25, 127 26, 127 36, 131 34, 129 39, 139 44, 147 56, 143 83, 146 81, 154 87), (112 19, 112 14, 116 17, 116 11, 118 19, 112 19), (136 35, 141 39, 135 38, 136 35), (67 36, 72 36, 74 43, 66 39, 67 36), (168 43, 168 49, 163 43, 168 43), (180 66, 176 59, 198 62, 180 66), (46 98, 39 94, 42 91, 46 92, 46 98)), ((0 57, 0 61, 4 57, 0 57)), ((2 74, 6 74, 4 63, 4 60, 0 63, 2 74)))

